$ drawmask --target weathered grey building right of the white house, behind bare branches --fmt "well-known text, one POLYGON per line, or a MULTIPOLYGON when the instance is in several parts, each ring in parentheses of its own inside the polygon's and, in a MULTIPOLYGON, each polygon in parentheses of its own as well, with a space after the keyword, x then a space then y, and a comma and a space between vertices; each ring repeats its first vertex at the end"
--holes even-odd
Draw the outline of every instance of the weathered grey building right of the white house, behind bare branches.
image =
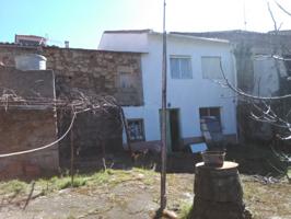
MULTIPOLYGON (((248 94, 258 96, 280 96, 291 93, 291 38, 290 31, 258 33, 249 31, 221 31, 201 33, 178 33, 186 36, 213 37, 228 39, 233 44, 237 69, 237 87, 248 94)), ((251 118, 256 115, 252 102, 238 101, 237 123, 241 140, 272 140, 284 130, 269 123, 251 118)), ((271 108, 284 118, 289 115, 290 101, 272 101, 271 108)), ((264 106, 263 106, 264 108, 264 106)))

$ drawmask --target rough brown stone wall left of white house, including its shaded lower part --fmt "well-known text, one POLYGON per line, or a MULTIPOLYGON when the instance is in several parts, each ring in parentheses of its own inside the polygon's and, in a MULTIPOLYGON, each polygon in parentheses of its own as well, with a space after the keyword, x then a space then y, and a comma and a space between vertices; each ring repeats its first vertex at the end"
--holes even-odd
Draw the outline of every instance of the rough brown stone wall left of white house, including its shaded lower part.
MULTIPOLYGON (((115 53, 58 47, 19 47, 0 45, 0 62, 14 67, 14 57, 39 54, 47 58, 47 69, 54 70, 57 97, 70 97, 72 92, 113 95, 118 104, 143 105, 141 60, 137 53, 115 53), (130 87, 123 87, 120 73, 128 73, 130 87)), ((31 87, 31 85, 30 85, 31 87)), ((57 112, 60 137, 71 122, 70 112, 57 112)), ((118 110, 106 108, 97 114, 79 114, 73 126, 75 159, 123 149, 123 129, 118 110)), ((59 143, 60 164, 70 158, 70 136, 59 143), (62 162, 63 161, 63 162, 62 162)))

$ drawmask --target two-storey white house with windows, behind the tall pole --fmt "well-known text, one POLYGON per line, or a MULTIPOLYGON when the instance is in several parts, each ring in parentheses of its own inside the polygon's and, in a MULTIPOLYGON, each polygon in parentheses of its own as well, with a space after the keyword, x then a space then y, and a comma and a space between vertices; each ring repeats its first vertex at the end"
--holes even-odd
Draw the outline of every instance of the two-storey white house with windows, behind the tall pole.
MULTIPOLYGON (((106 31, 98 49, 141 55, 143 105, 125 106, 131 139, 154 147, 161 139, 162 34, 151 30, 106 31)), ((167 107, 171 149, 201 141, 200 117, 216 116, 228 139, 236 137, 236 97, 216 82, 220 62, 236 84, 234 57, 228 41, 167 34, 167 107)), ((123 72, 124 73, 124 72, 123 72)))

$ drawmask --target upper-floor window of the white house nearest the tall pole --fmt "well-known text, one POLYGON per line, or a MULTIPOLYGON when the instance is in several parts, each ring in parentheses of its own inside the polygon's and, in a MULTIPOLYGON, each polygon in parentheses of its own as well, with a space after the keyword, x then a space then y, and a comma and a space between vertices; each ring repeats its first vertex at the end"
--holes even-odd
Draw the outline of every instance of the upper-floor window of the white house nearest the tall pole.
POLYGON ((172 79, 191 79, 191 58, 190 57, 175 57, 170 58, 171 77, 172 79))

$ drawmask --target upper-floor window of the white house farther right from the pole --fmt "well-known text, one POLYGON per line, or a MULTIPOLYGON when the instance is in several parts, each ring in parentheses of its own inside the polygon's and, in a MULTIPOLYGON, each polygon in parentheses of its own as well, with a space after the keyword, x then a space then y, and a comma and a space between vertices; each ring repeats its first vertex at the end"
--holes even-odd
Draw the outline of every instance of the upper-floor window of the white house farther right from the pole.
POLYGON ((219 56, 201 57, 203 79, 222 79, 220 62, 221 58, 219 56))

